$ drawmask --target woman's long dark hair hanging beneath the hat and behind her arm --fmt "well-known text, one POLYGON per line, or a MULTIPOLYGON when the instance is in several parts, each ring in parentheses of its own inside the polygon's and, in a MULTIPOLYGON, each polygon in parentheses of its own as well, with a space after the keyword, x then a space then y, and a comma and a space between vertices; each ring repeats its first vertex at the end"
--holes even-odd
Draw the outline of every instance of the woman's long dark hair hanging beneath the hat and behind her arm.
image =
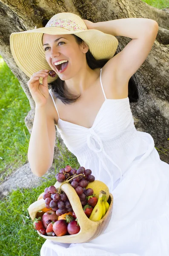
MULTIPOLYGON (((77 37, 74 34, 72 35, 75 37, 77 44, 81 44, 83 42, 81 38, 77 37)), ((86 52, 86 61, 88 66, 92 70, 94 70, 95 68, 102 68, 107 63, 107 61, 109 61, 109 59, 96 60, 92 53, 88 50, 88 52, 86 52)), ((69 93, 69 91, 64 86, 64 81, 61 80, 59 77, 57 77, 57 79, 53 82, 49 83, 49 85, 51 85, 54 95, 58 99, 60 99, 65 105, 71 104, 80 98, 80 95, 74 95, 69 93)), ((133 77, 129 79, 128 97, 129 102, 137 102, 139 98, 137 85, 133 77)))

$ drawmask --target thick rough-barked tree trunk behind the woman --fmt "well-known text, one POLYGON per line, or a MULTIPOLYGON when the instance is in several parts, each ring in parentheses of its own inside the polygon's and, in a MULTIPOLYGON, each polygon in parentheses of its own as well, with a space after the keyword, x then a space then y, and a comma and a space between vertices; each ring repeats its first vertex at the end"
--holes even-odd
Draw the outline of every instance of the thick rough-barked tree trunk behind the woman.
MULTIPOLYGON (((42 27, 44 19, 50 19, 58 12, 73 12, 93 22, 129 17, 156 20, 159 31, 155 43, 141 67, 134 74, 139 90, 139 101, 131 103, 131 110, 138 131, 148 132, 156 147, 166 148, 160 154, 161 160, 169 163, 169 9, 159 10, 141 0, 0 0, 0 54, 14 75, 20 81, 29 99, 31 111, 25 118, 31 133, 34 118, 34 101, 29 92, 29 78, 17 67, 10 51, 9 37, 12 32, 42 27)), ((120 52, 130 38, 117 36, 120 52)), ((64 143, 57 133, 62 147, 64 143)), ((59 154, 57 143, 54 158, 59 154)))

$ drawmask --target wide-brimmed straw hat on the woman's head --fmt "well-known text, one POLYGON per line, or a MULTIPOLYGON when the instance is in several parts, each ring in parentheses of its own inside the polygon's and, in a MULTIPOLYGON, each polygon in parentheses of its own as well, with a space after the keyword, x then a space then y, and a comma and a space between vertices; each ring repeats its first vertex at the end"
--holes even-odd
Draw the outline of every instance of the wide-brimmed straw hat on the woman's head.
MULTIPOLYGON (((49 35, 74 34, 89 47, 96 59, 110 59, 114 56, 118 40, 113 35, 97 29, 87 29, 84 21, 73 13, 61 12, 54 15, 45 27, 15 32, 10 35, 11 52, 18 67, 29 78, 39 70, 51 70, 43 49, 43 33, 49 35)), ((48 76, 48 83, 57 78, 48 76)), ((42 78, 40 78, 42 83, 42 78)))

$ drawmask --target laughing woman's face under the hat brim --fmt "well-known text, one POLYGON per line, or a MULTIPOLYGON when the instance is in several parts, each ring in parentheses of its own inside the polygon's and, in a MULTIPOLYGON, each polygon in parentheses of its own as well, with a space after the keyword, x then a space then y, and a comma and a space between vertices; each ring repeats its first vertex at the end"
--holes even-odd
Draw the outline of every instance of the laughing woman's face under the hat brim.
POLYGON ((86 65, 86 52, 89 48, 84 42, 77 44, 73 35, 43 34, 43 49, 51 69, 61 80, 67 80, 75 76, 84 64, 86 65), (59 64, 58 61, 67 62, 59 64))

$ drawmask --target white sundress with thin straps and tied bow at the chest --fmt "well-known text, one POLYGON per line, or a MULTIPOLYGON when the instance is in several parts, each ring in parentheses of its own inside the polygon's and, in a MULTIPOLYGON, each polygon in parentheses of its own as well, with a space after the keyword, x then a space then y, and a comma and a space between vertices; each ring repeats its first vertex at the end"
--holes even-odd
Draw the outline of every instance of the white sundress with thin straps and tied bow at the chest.
POLYGON ((96 239, 46 240, 40 256, 169 256, 169 164, 160 160, 152 136, 136 130, 129 98, 106 99, 101 70, 100 84, 105 101, 91 128, 60 117, 56 126, 80 166, 109 187, 112 217, 96 239))

